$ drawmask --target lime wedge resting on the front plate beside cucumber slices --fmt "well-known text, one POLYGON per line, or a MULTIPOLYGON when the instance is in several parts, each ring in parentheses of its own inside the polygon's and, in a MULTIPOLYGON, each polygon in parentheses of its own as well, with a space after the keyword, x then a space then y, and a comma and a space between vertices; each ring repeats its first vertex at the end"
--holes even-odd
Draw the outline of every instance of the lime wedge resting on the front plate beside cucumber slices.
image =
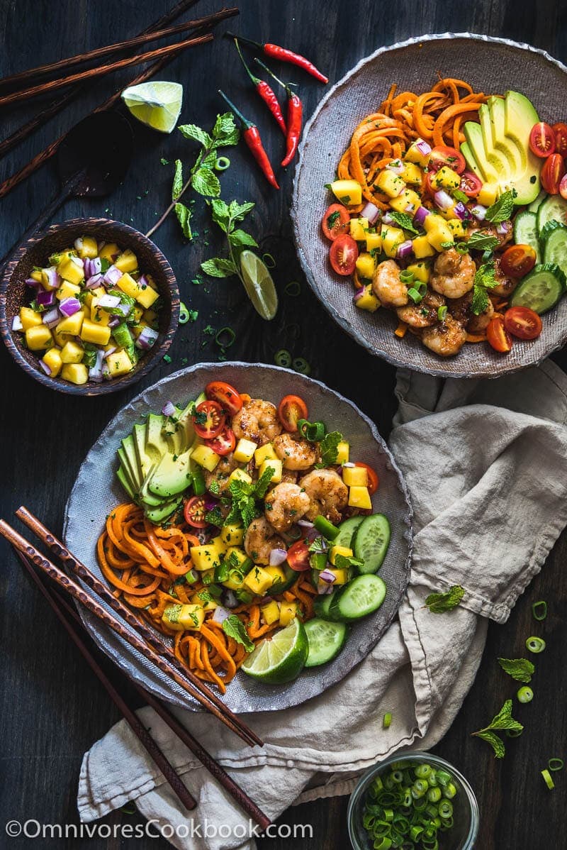
POLYGON ((309 652, 303 623, 295 618, 289 626, 276 632, 273 638, 258 643, 252 655, 242 665, 249 676, 269 685, 292 682, 303 670, 309 652))

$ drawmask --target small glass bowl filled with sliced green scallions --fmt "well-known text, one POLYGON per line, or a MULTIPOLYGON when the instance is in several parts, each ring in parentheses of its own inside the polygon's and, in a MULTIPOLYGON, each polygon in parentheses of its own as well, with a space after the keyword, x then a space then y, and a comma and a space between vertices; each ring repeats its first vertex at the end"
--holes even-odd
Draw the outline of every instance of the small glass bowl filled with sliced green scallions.
POLYGON ((396 754, 356 785, 348 827, 354 850, 472 850, 479 807, 469 782, 444 759, 396 754))

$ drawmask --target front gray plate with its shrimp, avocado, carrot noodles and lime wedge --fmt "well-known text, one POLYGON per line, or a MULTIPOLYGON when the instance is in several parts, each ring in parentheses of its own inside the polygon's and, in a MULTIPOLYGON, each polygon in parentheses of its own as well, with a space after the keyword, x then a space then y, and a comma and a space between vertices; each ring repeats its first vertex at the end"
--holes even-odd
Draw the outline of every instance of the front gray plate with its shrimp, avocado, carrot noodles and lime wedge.
MULTIPOLYGON (((278 367, 205 364, 109 424, 65 539, 227 706, 271 711, 339 682, 385 632, 407 587, 411 507, 351 402, 278 367)), ((198 708, 81 615, 144 687, 198 708)))

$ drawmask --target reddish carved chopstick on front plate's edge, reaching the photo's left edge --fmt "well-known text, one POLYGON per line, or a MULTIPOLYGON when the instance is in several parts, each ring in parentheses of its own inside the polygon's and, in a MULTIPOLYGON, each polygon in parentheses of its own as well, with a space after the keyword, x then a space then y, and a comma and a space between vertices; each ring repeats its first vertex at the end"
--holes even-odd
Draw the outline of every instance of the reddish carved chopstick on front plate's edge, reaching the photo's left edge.
MULTIPOLYGON (((55 581, 59 587, 62 587, 65 592, 69 593, 70 596, 80 602, 93 615, 95 615, 95 617, 98 617, 100 621, 104 622, 106 626, 109 626, 109 628, 112 629, 112 631, 120 638, 125 640, 126 643, 129 643, 133 649, 137 649, 144 658, 151 661, 152 664, 158 667, 158 669, 165 673, 166 676, 171 677, 173 681, 185 691, 185 693, 194 697, 195 700, 198 700, 202 706, 205 706, 207 711, 211 711, 211 714, 218 717, 218 719, 221 720, 225 726, 230 728, 234 734, 239 735, 241 738, 243 737, 243 733, 238 727, 234 726, 231 717, 227 714, 226 706, 223 706, 225 711, 219 710, 214 703, 205 697, 204 694, 195 689, 192 683, 182 677, 175 667, 171 666, 168 660, 158 655, 154 649, 151 649, 148 644, 138 636, 137 632, 132 632, 130 629, 127 629, 114 615, 102 608, 102 606, 89 596, 89 594, 86 593, 83 588, 76 583, 76 581, 71 579, 70 576, 63 570, 59 570, 59 567, 55 566, 52 561, 39 552, 36 547, 32 546, 29 541, 26 541, 25 537, 22 537, 20 533, 12 528, 12 526, 4 519, 0 519, 0 534, 14 547, 19 549, 21 553, 24 553, 27 558, 30 558, 31 561, 36 564, 36 567, 39 567, 42 572, 46 573, 46 575, 55 581)), ((246 743, 250 743, 250 741, 246 740, 246 743)))

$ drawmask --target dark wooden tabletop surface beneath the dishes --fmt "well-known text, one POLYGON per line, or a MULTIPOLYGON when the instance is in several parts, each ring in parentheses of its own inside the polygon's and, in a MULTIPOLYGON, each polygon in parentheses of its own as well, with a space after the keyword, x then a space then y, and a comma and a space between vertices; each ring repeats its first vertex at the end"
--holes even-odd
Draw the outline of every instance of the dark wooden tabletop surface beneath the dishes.
MULTIPOLYGON (((24 70, 39 62, 59 59, 135 34, 162 14, 173 0, 91 0, 90 3, 53 3, 48 0, 0 0, 0 54, 2 75, 24 70)), ((227 3, 229 5, 229 3, 227 3)), ((221 0, 201 0, 199 14, 222 6, 221 0)), ((358 59, 382 44, 401 41, 424 32, 474 31, 531 42, 559 59, 567 60, 565 3, 542 0, 480 0, 476 3, 441 3, 432 0, 401 0, 379 3, 359 0, 354 6, 340 0, 243 0, 240 20, 233 28, 260 40, 272 40, 296 48, 339 79, 358 59)), ((280 68, 283 76, 300 82, 307 116, 324 88, 300 71, 280 68)), ((77 119, 132 77, 132 71, 86 89, 63 114, 49 122, 19 150, 0 163, 0 177, 23 165, 44 144, 64 132, 77 119)), ((267 139, 267 148, 278 156, 281 138, 255 96, 247 87, 229 42, 219 38, 212 45, 188 52, 173 62, 162 79, 177 80, 185 88, 182 122, 211 125, 222 104, 217 88, 233 94, 245 111, 255 116, 267 139)), ((39 102, 2 115, 2 136, 12 132, 34 114, 39 102)), ((345 116, 348 120, 348 116, 345 116)), ((71 201, 59 220, 89 214, 119 218, 145 231, 166 206, 171 185, 171 164, 177 157, 190 162, 194 148, 179 133, 162 137, 141 125, 135 127, 135 156, 124 184, 106 201, 71 201)), ((156 241, 177 274, 182 299, 199 311, 194 324, 180 329, 171 348, 171 364, 162 362, 136 387, 99 399, 76 399, 55 394, 26 377, 2 347, 3 404, 0 407, 0 515, 10 518, 24 502, 59 530, 65 500, 76 471, 88 448, 111 416, 144 385, 156 381, 185 363, 199 360, 263 361, 271 363, 278 348, 290 348, 312 364, 312 375, 351 398, 379 424, 387 435, 395 408, 394 371, 358 348, 338 331, 317 303, 305 281, 300 297, 286 297, 283 287, 302 280, 290 237, 289 197, 292 174, 283 176, 282 191, 267 189, 252 166, 246 150, 230 152, 232 166, 222 175, 222 194, 240 201, 252 200, 255 212, 250 229, 262 249, 277 260, 274 277, 281 295, 277 318, 267 324, 258 318, 238 280, 214 280, 194 285, 202 259, 220 247, 212 231, 205 205, 197 199, 195 209, 199 238, 184 244, 177 224, 170 220, 156 241), (214 341, 215 331, 232 326, 236 339, 226 354, 214 341), (295 340, 296 327, 300 336, 295 340), (376 388, 379 391, 376 391, 376 388)), ((329 175, 331 176, 331 175, 329 175)), ((2 201, 0 253, 13 244, 30 224, 36 211, 54 194, 58 181, 53 166, 20 185, 2 201)), ((306 215, 312 211, 305 210, 306 215)), ((559 355, 559 362, 567 360, 559 355)), ((45 604, 21 574, 20 566, 3 548, 1 579, 3 655, 1 735, 2 800, 0 847, 29 847, 25 839, 8 839, 4 825, 9 819, 37 819, 42 823, 76 824, 76 785, 81 757, 117 719, 117 713, 90 670, 65 638, 45 604)), ((567 579, 563 570, 567 536, 562 536, 542 574, 519 599, 506 626, 489 627, 486 653, 479 675, 464 701, 450 732, 435 751, 463 770, 474 786, 481 812, 482 850, 544 850, 565 847, 564 810, 567 775, 558 775, 555 791, 547 791, 540 776, 547 758, 564 756, 567 740, 564 711, 567 683, 562 649, 567 638, 565 613, 567 579), (514 657, 523 652, 525 638, 539 631, 531 619, 531 603, 549 602, 550 615, 543 631, 547 651, 538 660, 534 682, 536 698, 517 709, 525 734, 508 746, 503 762, 495 761, 488 745, 469 737, 514 694, 514 683, 499 672, 498 655, 514 657)), ((106 665, 109 666, 109 665, 106 665)), ((132 698, 133 699, 133 698, 132 698)), ((346 798, 315 802, 284 813, 284 824, 312 824, 312 841, 265 839, 261 850, 343 850, 348 846, 345 829, 346 798)), ((106 822, 136 824, 138 815, 115 813, 106 822)), ((44 838, 37 847, 119 847, 119 839, 77 841, 44 838)), ((131 846, 124 841, 123 846, 131 846)), ((169 847, 159 839, 137 839, 140 850, 169 847)))

